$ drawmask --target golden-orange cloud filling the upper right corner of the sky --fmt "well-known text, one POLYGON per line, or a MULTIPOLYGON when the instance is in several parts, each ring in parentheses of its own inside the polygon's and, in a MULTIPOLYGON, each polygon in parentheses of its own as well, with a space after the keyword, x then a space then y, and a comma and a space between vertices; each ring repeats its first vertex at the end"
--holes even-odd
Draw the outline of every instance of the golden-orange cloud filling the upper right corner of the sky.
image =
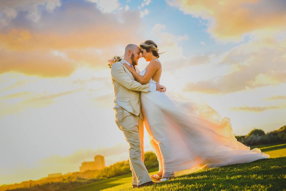
POLYGON ((285 1, 166 1, 184 14, 207 20, 208 32, 218 41, 239 42, 246 34, 269 36, 286 28, 285 1))

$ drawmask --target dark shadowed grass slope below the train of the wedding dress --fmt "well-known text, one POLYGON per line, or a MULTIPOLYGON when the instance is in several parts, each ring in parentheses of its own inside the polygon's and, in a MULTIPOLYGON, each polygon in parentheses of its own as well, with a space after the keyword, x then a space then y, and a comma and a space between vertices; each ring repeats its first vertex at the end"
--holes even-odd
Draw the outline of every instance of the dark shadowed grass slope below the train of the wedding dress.
POLYGON ((186 190, 283 190, 286 188, 285 172, 286 157, 269 158, 210 168, 160 183, 160 186, 166 189, 169 184, 178 184, 177 188, 186 190))

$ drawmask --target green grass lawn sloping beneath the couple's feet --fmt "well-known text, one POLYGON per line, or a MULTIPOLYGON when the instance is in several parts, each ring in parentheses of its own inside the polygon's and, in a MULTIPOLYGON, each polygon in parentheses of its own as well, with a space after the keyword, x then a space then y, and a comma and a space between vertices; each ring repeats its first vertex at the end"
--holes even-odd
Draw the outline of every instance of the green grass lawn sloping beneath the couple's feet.
MULTIPOLYGON (((271 158, 210 168, 136 190, 286 190, 286 144, 261 146, 271 158), (282 157, 279 157, 282 156, 282 157), (278 158, 275 158, 278 157, 278 158)), ((158 168, 150 169, 150 174, 158 168)), ((71 191, 129 191, 131 173, 74 187, 71 191)))

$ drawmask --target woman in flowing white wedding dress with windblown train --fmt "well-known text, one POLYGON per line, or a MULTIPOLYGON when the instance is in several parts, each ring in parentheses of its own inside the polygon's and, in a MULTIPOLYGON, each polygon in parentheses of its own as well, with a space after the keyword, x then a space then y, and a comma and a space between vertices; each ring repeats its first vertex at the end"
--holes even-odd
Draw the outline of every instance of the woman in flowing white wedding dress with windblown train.
MULTIPOLYGON (((141 84, 159 83, 162 66, 157 44, 147 40, 139 47, 150 63, 140 73, 128 64, 125 67, 141 84)), ((142 92, 140 99, 144 124, 159 161, 158 174, 151 175, 153 180, 166 181, 183 170, 195 172, 269 157, 237 141, 230 119, 222 118, 207 104, 159 91, 142 92)))

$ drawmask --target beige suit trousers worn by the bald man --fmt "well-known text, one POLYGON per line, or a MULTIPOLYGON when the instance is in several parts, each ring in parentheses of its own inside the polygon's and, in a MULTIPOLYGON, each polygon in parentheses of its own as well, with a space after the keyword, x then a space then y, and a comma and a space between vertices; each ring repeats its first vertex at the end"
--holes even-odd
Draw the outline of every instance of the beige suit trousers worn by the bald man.
POLYGON ((144 165, 143 121, 123 108, 115 109, 115 122, 129 143, 129 164, 132 171, 133 185, 141 185, 152 181, 144 165))

